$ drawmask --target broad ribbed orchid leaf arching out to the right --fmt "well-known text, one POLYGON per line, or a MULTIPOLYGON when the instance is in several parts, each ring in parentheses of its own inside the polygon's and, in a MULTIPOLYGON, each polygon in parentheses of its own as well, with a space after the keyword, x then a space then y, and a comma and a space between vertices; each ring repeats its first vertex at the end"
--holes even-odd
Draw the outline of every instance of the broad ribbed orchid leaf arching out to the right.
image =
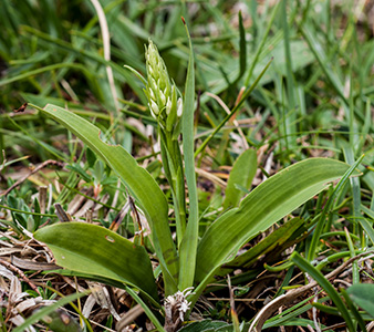
POLYGON ((310 158, 268 178, 241 201, 239 208, 224 214, 204 235, 197 251, 196 280, 201 281, 259 231, 264 231, 322 191, 349 167, 337 160, 310 158))

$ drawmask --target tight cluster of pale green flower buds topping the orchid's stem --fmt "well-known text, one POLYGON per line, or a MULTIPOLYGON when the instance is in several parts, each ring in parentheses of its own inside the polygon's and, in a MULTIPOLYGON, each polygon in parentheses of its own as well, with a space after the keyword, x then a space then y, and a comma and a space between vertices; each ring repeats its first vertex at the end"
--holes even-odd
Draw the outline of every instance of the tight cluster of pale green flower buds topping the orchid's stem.
POLYGON ((181 97, 177 97, 175 83, 170 82, 165 62, 152 40, 148 48, 145 48, 145 58, 147 66, 145 94, 150 114, 158 121, 162 129, 172 133, 183 113, 181 97))

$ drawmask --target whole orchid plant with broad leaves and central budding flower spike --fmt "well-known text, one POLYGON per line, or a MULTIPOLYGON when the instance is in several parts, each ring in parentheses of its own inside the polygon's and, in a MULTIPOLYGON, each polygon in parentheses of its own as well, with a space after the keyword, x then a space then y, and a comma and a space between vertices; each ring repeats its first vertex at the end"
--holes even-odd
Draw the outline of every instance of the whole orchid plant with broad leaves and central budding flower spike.
MULTIPOLYGON (((188 31, 187 35, 189 38, 188 31)), ((169 226, 166 196, 135 158, 122 146, 102 142, 100 129, 74 113, 54 105, 44 108, 34 106, 81 138, 113 169, 135 199, 150 228, 149 240, 164 286, 164 307, 155 283, 157 274, 155 277, 149 256, 142 243, 134 243, 104 227, 75 221, 43 227, 34 234, 34 238, 50 247, 56 263, 65 269, 61 273, 74 273, 125 288, 144 307, 158 331, 178 329, 206 286, 215 280, 215 274, 219 274, 225 263, 227 271, 242 245, 349 170, 346 164, 324 158, 311 158, 292 165, 267 179, 240 204, 230 206, 199 239, 194 156, 195 72, 190 38, 189 48, 184 96, 170 80, 166 64, 152 41, 145 51, 147 77, 141 76, 149 112, 157 121, 164 172, 173 196, 176 241, 169 226), (164 313, 164 326, 149 304, 164 313)), ((263 73, 247 87, 239 105, 263 73)), ((229 179, 231 188, 235 184, 241 185, 243 177, 250 185, 253 167, 257 168, 256 152, 245 152, 237 165, 229 179)), ((241 198, 245 194, 238 189, 227 195, 241 198)), ((239 198, 232 201, 239 201, 239 198)))

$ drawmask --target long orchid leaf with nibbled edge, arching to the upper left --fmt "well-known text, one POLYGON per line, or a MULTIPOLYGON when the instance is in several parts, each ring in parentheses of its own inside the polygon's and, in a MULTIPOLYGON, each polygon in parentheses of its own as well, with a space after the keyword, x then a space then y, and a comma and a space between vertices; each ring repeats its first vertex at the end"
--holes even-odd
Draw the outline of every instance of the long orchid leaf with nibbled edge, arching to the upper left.
POLYGON ((166 280, 166 293, 177 290, 178 257, 168 225, 168 205, 155 179, 120 145, 100 139, 100 129, 91 122, 54 105, 40 108, 81 138, 122 179, 144 210, 152 229, 152 240, 166 280))

